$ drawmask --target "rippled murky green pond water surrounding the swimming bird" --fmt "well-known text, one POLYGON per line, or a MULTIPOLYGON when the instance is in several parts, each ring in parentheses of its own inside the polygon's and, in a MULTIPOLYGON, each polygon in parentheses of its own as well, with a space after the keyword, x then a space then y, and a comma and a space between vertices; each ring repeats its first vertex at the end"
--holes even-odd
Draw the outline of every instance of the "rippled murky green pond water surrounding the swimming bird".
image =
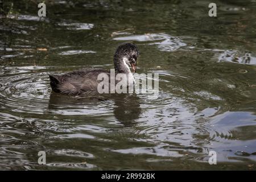
POLYGON ((256 169, 254 0, 215 1, 217 18, 211 1, 46 1, 45 19, 13 2, 0 18, 0 169, 256 169), (48 73, 113 68, 122 42, 139 47, 138 73, 159 73, 157 99, 51 93, 48 73))

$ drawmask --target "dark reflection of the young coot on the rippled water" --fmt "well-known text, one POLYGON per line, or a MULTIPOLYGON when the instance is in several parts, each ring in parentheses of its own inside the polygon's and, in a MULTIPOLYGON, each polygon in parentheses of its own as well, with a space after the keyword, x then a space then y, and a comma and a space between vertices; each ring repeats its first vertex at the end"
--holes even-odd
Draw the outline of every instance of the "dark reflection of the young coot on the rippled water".
MULTIPOLYGON (((58 110, 64 108, 66 114, 71 114, 81 111, 81 114, 104 114, 105 111, 113 111, 114 117, 124 126, 133 125, 136 119, 142 113, 140 106, 140 98, 136 94, 96 94, 91 96, 63 96, 52 92, 49 97, 48 109, 50 113, 59 113, 58 110), (106 102, 110 102, 108 105, 106 102), (105 107, 102 110, 97 110, 97 107, 105 107), (67 107, 70 107, 67 110, 67 107), (85 111, 85 110, 89 111, 85 111), (93 111, 94 110, 94 111, 93 111)), ((62 113, 65 114, 65 113, 62 113)))

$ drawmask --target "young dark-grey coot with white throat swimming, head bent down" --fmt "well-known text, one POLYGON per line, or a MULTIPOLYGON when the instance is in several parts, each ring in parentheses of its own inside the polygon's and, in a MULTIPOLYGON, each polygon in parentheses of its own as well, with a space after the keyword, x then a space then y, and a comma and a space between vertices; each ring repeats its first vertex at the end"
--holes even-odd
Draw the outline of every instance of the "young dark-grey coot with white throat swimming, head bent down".
MULTIPOLYGON (((128 81, 131 82, 132 80, 133 83, 134 78, 129 65, 133 72, 135 72, 138 56, 139 51, 135 44, 125 43, 119 46, 114 54, 115 74, 125 73, 128 76, 128 81)), ((101 82, 97 80, 100 73, 106 73, 110 78, 110 71, 97 68, 83 68, 62 75, 49 75, 49 78, 54 92, 68 95, 80 95, 97 93, 98 83, 101 82)), ((116 82, 114 84, 116 84, 116 82)))

